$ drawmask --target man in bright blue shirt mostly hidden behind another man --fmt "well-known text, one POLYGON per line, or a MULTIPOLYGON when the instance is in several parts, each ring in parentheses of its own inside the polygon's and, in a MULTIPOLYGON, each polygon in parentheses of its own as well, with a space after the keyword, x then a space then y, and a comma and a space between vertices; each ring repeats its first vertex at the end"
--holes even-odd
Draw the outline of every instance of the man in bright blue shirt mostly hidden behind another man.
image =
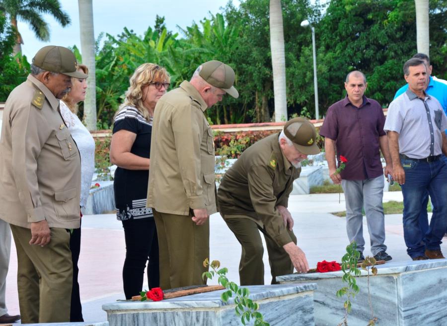
MULTIPOLYGON (((413 56, 413 58, 421 59, 426 67, 427 67, 427 88, 425 89, 425 92, 428 95, 433 96, 436 98, 443 107, 444 112, 447 114, 447 83, 443 79, 434 78, 432 74, 433 66, 430 65, 430 58, 424 53, 417 53, 413 56)), ((408 88, 408 84, 405 84, 399 90, 396 92, 396 95, 394 95, 394 99, 396 97, 400 96, 401 94, 405 93, 408 88)), ((447 134, 447 130, 445 130, 447 134)), ((447 164, 447 157, 445 155, 442 155, 442 158, 444 162, 447 164)), ((428 214, 427 214, 427 204, 428 204, 428 198, 429 194, 428 192, 425 193, 424 196, 422 196, 422 202, 421 202, 421 212, 419 214, 419 226, 421 227, 421 230, 423 233, 426 233, 428 231, 428 214)))

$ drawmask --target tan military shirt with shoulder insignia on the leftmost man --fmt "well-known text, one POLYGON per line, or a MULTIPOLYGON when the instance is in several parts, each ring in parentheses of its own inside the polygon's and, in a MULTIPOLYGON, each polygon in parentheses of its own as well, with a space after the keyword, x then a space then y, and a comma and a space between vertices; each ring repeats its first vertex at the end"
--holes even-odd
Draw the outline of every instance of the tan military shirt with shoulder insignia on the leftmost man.
POLYGON ((59 100, 39 80, 9 94, 0 140, 0 218, 25 228, 78 228, 80 158, 58 111, 59 100))

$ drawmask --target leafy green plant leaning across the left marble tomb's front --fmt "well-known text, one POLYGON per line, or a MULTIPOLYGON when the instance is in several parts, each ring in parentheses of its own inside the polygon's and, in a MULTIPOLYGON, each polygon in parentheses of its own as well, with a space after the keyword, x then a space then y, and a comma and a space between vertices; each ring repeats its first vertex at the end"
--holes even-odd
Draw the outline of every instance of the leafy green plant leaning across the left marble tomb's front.
POLYGON ((234 294, 234 303, 236 304, 236 315, 240 317, 240 321, 242 325, 247 325, 246 323, 250 321, 250 319, 254 320, 254 326, 270 326, 269 323, 264 321, 264 317, 258 311, 259 305, 253 300, 248 298, 250 294, 247 288, 239 287, 236 283, 230 282, 226 277, 226 273, 228 269, 223 267, 219 269, 221 266, 220 261, 208 261, 208 258, 203 262, 205 267, 210 266, 212 270, 206 271, 202 274, 202 278, 205 277, 209 279, 213 279, 215 275, 218 275, 218 282, 226 291, 224 291, 221 295, 222 301, 228 302, 228 299, 234 294))

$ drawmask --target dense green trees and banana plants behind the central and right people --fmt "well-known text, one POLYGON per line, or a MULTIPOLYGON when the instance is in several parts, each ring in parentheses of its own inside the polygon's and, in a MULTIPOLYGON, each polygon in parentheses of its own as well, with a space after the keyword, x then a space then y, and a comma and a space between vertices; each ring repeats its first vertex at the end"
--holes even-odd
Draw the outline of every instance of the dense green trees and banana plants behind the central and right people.
MULTIPOLYGON (((304 19, 315 28, 320 115, 324 116, 332 103, 345 96, 344 79, 355 69, 367 76, 368 97, 384 107, 390 103, 395 91, 405 83, 403 63, 417 51, 414 1, 330 0, 320 5, 311 0, 282 0, 281 3, 291 116, 314 117, 312 40, 310 29, 300 26, 304 19)), ((446 10, 447 0, 430 1, 433 74, 444 79, 446 10)), ((145 62, 166 67, 171 74, 171 88, 189 80, 203 62, 220 60, 231 65, 236 73, 239 98, 225 96, 207 110, 211 121, 214 124, 270 121, 274 95, 269 38, 269 0, 241 0, 239 6, 230 1, 221 12, 210 13, 208 18, 185 29, 179 28, 178 33, 167 30, 164 17, 157 16, 154 27, 149 26, 143 35, 127 28, 117 36, 103 34, 96 48, 98 127, 111 125, 129 86, 129 77, 145 62)))

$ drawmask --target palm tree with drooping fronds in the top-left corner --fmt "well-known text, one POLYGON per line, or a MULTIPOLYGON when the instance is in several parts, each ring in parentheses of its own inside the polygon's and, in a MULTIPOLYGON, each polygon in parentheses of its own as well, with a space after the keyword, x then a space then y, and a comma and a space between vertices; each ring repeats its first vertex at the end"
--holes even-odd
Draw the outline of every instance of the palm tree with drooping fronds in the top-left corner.
POLYGON ((5 14, 16 32, 14 55, 22 51, 22 36, 17 29, 17 19, 28 23, 36 38, 50 40, 50 30, 42 14, 51 14, 63 27, 70 24, 69 15, 62 10, 59 0, 0 0, 0 11, 5 14))

